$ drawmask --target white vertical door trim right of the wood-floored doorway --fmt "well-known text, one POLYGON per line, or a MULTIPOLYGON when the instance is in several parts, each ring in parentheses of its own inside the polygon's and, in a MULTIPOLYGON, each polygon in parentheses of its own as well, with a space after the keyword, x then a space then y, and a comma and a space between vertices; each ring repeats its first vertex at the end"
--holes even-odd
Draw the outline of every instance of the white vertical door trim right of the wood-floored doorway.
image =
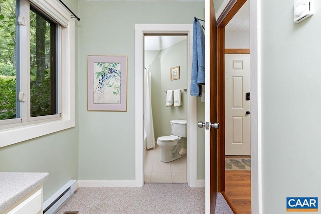
POLYGON ((250 1, 251 204, 262 213, 261 153, 261 0, 250 1))

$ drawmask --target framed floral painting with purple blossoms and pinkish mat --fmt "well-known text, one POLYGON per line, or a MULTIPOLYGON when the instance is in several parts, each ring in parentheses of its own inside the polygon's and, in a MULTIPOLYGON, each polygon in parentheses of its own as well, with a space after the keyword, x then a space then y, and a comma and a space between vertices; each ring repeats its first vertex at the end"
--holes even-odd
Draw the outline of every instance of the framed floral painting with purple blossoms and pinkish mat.
POLYGON ((88 111, 127 111, 127 56, 88 56, 88 111))

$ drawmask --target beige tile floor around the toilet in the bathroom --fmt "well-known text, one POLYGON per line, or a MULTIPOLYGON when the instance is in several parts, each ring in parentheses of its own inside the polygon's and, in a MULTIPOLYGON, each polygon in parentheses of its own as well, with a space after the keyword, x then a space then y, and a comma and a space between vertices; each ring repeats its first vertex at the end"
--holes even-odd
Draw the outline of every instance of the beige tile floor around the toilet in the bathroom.
POLYGON ((149 149, 145 154, 145 183, 187 183, 187 155, 180 151, 181 158, 169 163, 162 162, 161 148, 149 149))

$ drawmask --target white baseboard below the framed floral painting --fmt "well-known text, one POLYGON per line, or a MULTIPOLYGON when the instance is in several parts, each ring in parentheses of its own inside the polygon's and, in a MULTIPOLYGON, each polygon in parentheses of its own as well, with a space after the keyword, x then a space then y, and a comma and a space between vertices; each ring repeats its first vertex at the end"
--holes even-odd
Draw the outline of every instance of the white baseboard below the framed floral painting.
POLYGON ((134 180, 78 180, 79 187, 135 187, 134 180))

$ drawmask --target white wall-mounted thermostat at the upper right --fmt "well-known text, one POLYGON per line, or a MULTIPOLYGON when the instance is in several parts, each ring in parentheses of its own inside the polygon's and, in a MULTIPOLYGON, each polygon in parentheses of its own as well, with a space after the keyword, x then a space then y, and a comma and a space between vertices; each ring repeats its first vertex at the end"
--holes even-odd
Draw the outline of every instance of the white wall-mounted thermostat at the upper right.
POLYGON ((294 0, 294 22, 299 23, 314 14, 314 0, 294 0))

